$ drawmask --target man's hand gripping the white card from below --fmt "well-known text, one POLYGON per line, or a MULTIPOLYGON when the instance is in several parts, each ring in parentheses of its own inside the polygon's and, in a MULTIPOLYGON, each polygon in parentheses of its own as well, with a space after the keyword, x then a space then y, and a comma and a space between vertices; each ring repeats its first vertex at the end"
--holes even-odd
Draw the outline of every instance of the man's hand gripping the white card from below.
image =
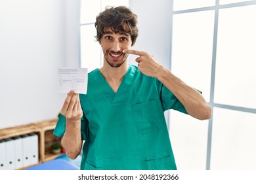
POLYGON ((80 120, 83 116, 83 110, 81 108, 79 94, 74 91, 70 91, 64 101, 64 104, 60 110, 60 113, 66 117, 69 121, 80 120))

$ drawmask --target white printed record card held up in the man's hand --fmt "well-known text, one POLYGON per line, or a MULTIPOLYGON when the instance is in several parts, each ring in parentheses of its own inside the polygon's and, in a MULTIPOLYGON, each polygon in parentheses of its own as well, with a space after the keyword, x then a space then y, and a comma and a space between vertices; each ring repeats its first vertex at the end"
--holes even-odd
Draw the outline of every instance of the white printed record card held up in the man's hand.
POLYGON ((58 91, 68 93, 87 93, 88 73, 87 68, 58 68, 58 91))

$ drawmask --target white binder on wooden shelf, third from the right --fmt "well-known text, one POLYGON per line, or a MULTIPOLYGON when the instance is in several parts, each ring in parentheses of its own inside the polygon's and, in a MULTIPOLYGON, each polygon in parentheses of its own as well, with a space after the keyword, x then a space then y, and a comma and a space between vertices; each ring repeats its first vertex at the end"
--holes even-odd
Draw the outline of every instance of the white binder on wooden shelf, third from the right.
POLYGON ((23 167, 22 138, 20 136, 16 136, 12 139, 14 141, 15 169, 21 169, 23 167))

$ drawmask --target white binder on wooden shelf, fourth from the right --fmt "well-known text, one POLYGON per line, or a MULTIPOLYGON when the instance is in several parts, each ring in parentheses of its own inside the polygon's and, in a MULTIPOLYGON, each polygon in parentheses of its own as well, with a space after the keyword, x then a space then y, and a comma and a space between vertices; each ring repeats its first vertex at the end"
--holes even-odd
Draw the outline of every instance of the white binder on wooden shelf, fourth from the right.
POLYGON ((9 139, 4 139, 5 141, 5 150, 6 150, 6 159, 7 159, 7 170, 15 169, 15 155, 14 155, 14 141, 9 139))

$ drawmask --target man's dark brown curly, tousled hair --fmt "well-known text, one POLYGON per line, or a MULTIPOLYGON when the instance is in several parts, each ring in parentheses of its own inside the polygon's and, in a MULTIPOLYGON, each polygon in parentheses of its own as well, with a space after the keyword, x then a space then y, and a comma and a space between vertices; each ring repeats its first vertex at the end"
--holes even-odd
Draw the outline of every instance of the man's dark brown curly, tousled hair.
POLYGON ((95 27, 97 35, 96 41, 100 41, 106 28, 110 27, 114 33, 129 33, 132 45, 138 37, 137 15, 125 6, 106 7, 103 12, 96 16, 95 27))

